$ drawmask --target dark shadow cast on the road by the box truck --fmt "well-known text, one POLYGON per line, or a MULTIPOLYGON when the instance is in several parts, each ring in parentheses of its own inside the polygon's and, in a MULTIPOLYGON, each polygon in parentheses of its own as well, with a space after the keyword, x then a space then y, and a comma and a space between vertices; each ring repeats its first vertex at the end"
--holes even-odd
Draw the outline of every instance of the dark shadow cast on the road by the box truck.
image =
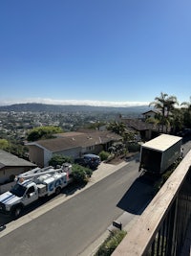
POLYGON ((139 176, 130 189, 117 203, 117 207, 135 214, 141 215, 150 201, 155 197, 154 183, 156 181, 148 175, 139 176))

